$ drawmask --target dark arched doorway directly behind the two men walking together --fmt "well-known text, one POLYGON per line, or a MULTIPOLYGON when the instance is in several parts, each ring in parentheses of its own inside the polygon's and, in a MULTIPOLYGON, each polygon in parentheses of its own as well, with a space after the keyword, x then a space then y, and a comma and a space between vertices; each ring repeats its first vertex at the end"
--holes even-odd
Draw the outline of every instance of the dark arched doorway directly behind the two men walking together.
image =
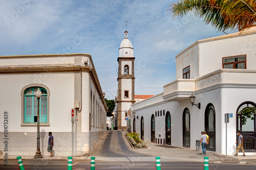
POLYGON ((215 109, 214 105, 209 103, 205 109, 205 131, 209 136, 209 144, 207 149, 211 151, 216 151, 216 126, 215 126, 215 109))

